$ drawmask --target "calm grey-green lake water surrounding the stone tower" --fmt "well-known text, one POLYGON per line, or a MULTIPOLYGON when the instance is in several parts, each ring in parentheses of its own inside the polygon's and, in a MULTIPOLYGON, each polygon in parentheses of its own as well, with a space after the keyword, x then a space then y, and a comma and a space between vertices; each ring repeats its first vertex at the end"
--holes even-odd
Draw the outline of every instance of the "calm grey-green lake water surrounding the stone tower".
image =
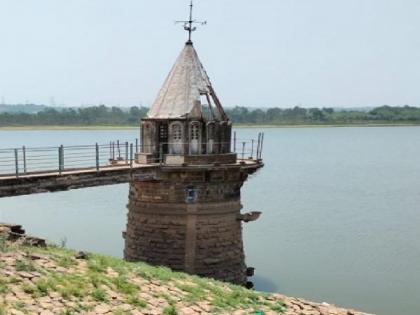
MULTIPOLYGON (((238 129, 251 138, 260 131, 238 129)), ((242 190, 256 288, 383 315, 420 314, 420 128, 265 129, 242 190)), ((133 130, 0 131, 0 148, 107 143, 133 130)), ((128 185, 0 199, 0 221, 121 257, 128 185)))

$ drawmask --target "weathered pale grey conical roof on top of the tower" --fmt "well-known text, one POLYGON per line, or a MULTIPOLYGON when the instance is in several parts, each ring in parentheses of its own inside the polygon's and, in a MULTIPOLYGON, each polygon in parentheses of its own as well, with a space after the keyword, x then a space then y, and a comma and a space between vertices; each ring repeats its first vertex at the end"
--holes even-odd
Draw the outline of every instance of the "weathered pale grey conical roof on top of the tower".
POLYGON ((187 42, 147 113, 147 118, 200 118, 201 95, 211 99, 215 97, 194 46, 187 42))

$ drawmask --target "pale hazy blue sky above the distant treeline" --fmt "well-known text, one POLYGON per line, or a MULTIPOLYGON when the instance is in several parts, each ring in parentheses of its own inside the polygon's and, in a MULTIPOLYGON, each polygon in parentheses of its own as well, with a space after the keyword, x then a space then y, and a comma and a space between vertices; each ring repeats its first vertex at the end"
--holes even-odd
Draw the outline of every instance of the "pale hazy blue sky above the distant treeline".
MULTIPOLYGON (((0 0, 5 103, 149 106, 189 0, 0 0)), ((418 0, 195 0, 225 107, 420 106, 418 0)))

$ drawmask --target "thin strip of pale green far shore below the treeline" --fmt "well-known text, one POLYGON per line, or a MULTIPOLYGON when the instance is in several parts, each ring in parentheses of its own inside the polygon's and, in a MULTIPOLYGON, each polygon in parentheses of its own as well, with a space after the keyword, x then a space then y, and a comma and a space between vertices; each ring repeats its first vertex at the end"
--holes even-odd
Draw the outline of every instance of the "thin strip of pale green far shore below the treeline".
MULTIPOLYGON (((420 123, 367 123, 367 124, 295 124, 295 125, 265 125, 265 124, 234 124, 234 128, 346 128, 346 127, 419 127, 420 123)), ((140 126, 1 126, 0 131, 20 130, 131 130, 140 126)))

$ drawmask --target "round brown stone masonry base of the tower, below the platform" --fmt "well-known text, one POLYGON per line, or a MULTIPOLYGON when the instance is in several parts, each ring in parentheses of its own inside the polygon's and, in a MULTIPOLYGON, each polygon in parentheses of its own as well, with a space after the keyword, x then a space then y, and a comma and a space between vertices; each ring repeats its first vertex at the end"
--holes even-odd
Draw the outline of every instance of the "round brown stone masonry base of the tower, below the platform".
POLYGON ((241 168, 156 168, 130 183, 124 255, 130 261, 246 282, 241 168))

